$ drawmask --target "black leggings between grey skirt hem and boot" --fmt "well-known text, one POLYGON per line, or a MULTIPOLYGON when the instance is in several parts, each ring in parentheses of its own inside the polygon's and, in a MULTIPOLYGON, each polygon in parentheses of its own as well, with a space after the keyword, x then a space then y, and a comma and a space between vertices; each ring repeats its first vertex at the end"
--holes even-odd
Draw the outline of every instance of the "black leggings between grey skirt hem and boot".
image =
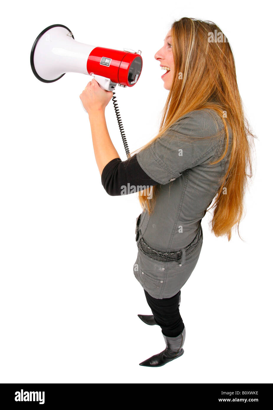
POLYGON ((146 300, 154 315, 156 324, 161 327, 163 335, 176 337, 184 330, 184 323, 179 312, 181 291, 171 298, 155 299, 145 289, 146 300))

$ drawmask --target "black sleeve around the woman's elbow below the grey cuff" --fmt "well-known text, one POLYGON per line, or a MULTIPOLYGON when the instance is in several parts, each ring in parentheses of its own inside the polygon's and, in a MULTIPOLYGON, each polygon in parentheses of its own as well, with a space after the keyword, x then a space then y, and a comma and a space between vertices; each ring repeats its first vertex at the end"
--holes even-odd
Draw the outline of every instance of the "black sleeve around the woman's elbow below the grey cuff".
POLYGON ((133 194, 158 184, 143 171, 136 154, 126 161, 114 158, 108 162, 103 168, 101 183, 111 196, 133 194))

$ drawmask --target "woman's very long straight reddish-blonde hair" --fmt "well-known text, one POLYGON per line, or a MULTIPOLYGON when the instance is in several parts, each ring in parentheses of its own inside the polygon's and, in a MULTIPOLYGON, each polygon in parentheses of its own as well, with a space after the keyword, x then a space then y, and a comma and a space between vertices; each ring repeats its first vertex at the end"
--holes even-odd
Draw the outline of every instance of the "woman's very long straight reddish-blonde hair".
MULTIPOLYGON (((234 57, 220 28, 211 21, 183 17, 174 21, 171 33, 174 76, 159 132, 147 144, 130 153, 129 158, 161 137, 181 116, 193 110, 211 108, 222 118, 227 140, 222 157, 211 163, 216 164, 227 152, 228 121, 233 133, 230 162, 211 206, 214 208, 211 231, 216 237, 227 235, 229 241, 235 224, 238 224, 239 234, 247 177, 252 178, 251 146, 253 138, 257 137, 250 132, 245 118, 236 81, 234 57), (221 41, 218 42, 215 37, 214 41, 209 41, 209 38, 213 39, 211 34, 216 32, 221 33, 221 41), (181 73, 182 79, 177 81, 177 78, 181 78, 181 73), (226 113, 225 116, 223 112, 226 113), (227 194, 223 194, 224 187, 227 194)), ((148 194, 146 190, 138 192, 142 210, 147 210, 149 214, 154 212, 158 186, 155 185, 152 189, 152 194, 151 191, 148 194)), ((241 238, 240 234, 239 237, 241 238)))

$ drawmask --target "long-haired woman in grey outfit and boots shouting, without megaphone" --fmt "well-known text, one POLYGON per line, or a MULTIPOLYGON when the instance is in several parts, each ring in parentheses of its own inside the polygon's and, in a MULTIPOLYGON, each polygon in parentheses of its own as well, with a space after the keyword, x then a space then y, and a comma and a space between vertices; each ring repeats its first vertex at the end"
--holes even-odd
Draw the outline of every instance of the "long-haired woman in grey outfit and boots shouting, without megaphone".
POLYGON ((80 95, 103 187, 109 195, 133 187, 125 193, 138 192, 142 206, 133 272, 153 315, 138 316, 159 325, 166 344, 140 363, 149 367, 184 353, 180 289, 197 264, 201 220, 213 198, 212 232, 229 241, 238 224, 239 234, 247 177, 252 177, 248 135, 255 137, 244 116, 232 50, 216 24, 186 17, 174 21, 154 57, 167 69, 161 78, 170 90, 160 131, 126 161, 112 144, 104 116, 113 93, 92 80, 80 95))

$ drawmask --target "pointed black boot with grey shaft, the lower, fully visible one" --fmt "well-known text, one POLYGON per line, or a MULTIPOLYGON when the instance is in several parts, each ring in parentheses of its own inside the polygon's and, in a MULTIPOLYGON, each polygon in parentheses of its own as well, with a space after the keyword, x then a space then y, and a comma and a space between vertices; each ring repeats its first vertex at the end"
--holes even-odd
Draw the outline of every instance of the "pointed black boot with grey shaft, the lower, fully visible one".
MULTIPOLYGON (((163 333, 162 333, 163 334, 163 333)), ((184 349, 182 348, 185 342, 186 337, 186 328, 184 327, 183 332, 176 337, 165 336, 166 348, 161 353, 157 355, 151 356, 149 359, 144 360, 144 362, 140 363, 140 366, 148 366, 148 367, 159 367, 163 366, 164 364, 179 358, 183 355, 184 349)))

